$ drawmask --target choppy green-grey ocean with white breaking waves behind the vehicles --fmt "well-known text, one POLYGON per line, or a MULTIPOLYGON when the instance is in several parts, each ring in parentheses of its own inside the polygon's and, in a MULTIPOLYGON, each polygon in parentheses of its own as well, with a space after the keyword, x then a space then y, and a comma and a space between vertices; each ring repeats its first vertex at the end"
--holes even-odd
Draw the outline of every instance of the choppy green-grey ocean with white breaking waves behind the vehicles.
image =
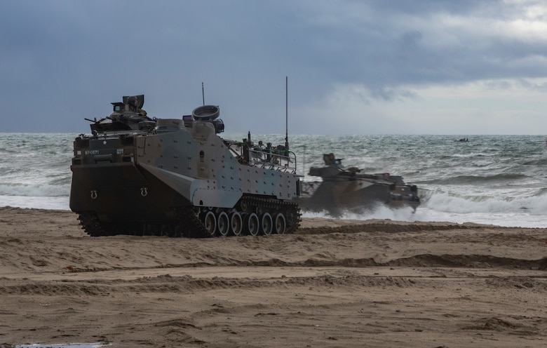
MULTIPOLYGON (((247 135, 220 134, 241 140, 247 135)), ((0 133, 0 206, 69 210, 72 141, 68 133, 0 133)), ((284 144, 285 135, 252 135, 284 144)), ((541 135, 290 135, 298 173, 323 166, 333 153, 364 173, 402 175, 417 185, 421 206, 379 206, 343 218, 475 222, 547 227, 546 136, 541 135), (460 142, 468 138, 468 142, 460 142)), ((328 217, 304 213, 304 217, 328 217)))

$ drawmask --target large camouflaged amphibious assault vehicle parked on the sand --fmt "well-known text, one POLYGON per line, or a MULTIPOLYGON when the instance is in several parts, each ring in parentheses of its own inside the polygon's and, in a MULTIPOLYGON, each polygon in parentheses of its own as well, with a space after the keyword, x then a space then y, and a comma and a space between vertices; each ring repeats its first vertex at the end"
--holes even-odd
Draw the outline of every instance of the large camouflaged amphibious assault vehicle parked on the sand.
POLYGON ((220 107, 181 119, 142 110, 144 95, 113 102, 74 140, 70 208, 91 236, 228 236, 299 227, 296 156, 285 145, 225 140, 220 107))

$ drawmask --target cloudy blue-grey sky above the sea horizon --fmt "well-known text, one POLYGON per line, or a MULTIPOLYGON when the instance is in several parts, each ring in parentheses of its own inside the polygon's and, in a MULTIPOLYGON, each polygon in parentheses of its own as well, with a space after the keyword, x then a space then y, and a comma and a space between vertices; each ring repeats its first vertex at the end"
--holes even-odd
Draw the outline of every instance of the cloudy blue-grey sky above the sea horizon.
POLYGON ((220 105, 227 133, 547 134, 543 0, 2 0, 0 132, 220 105))

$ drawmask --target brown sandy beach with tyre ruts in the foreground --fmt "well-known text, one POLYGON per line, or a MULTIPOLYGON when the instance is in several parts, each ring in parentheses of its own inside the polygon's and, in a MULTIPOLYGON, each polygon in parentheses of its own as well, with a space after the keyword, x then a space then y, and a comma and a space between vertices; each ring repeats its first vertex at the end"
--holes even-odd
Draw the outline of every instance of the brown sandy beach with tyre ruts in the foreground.
POLYGON ((0 346, 547 347, 544 229, 303 219, 295 234, 87 236, 0 208, 0 346))

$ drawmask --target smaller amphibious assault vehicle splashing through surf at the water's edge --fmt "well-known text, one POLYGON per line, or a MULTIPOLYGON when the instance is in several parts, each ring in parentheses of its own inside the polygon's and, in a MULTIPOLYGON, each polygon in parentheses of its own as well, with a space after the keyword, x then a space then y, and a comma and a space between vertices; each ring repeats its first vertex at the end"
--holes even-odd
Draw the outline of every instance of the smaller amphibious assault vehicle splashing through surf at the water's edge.
POLYGON ((322 181, 300 182, 301 195, 297 199, 302 210, 326 211, 332 216, 346 211, 360 213, 375 204, 392 207, 420 204, 418 188, 408 185, 401 176, 388 173, 366 174, 356 167, 344 168, 342 159, 323 154, 324 167, 311 167, 309 175, 322 181))

